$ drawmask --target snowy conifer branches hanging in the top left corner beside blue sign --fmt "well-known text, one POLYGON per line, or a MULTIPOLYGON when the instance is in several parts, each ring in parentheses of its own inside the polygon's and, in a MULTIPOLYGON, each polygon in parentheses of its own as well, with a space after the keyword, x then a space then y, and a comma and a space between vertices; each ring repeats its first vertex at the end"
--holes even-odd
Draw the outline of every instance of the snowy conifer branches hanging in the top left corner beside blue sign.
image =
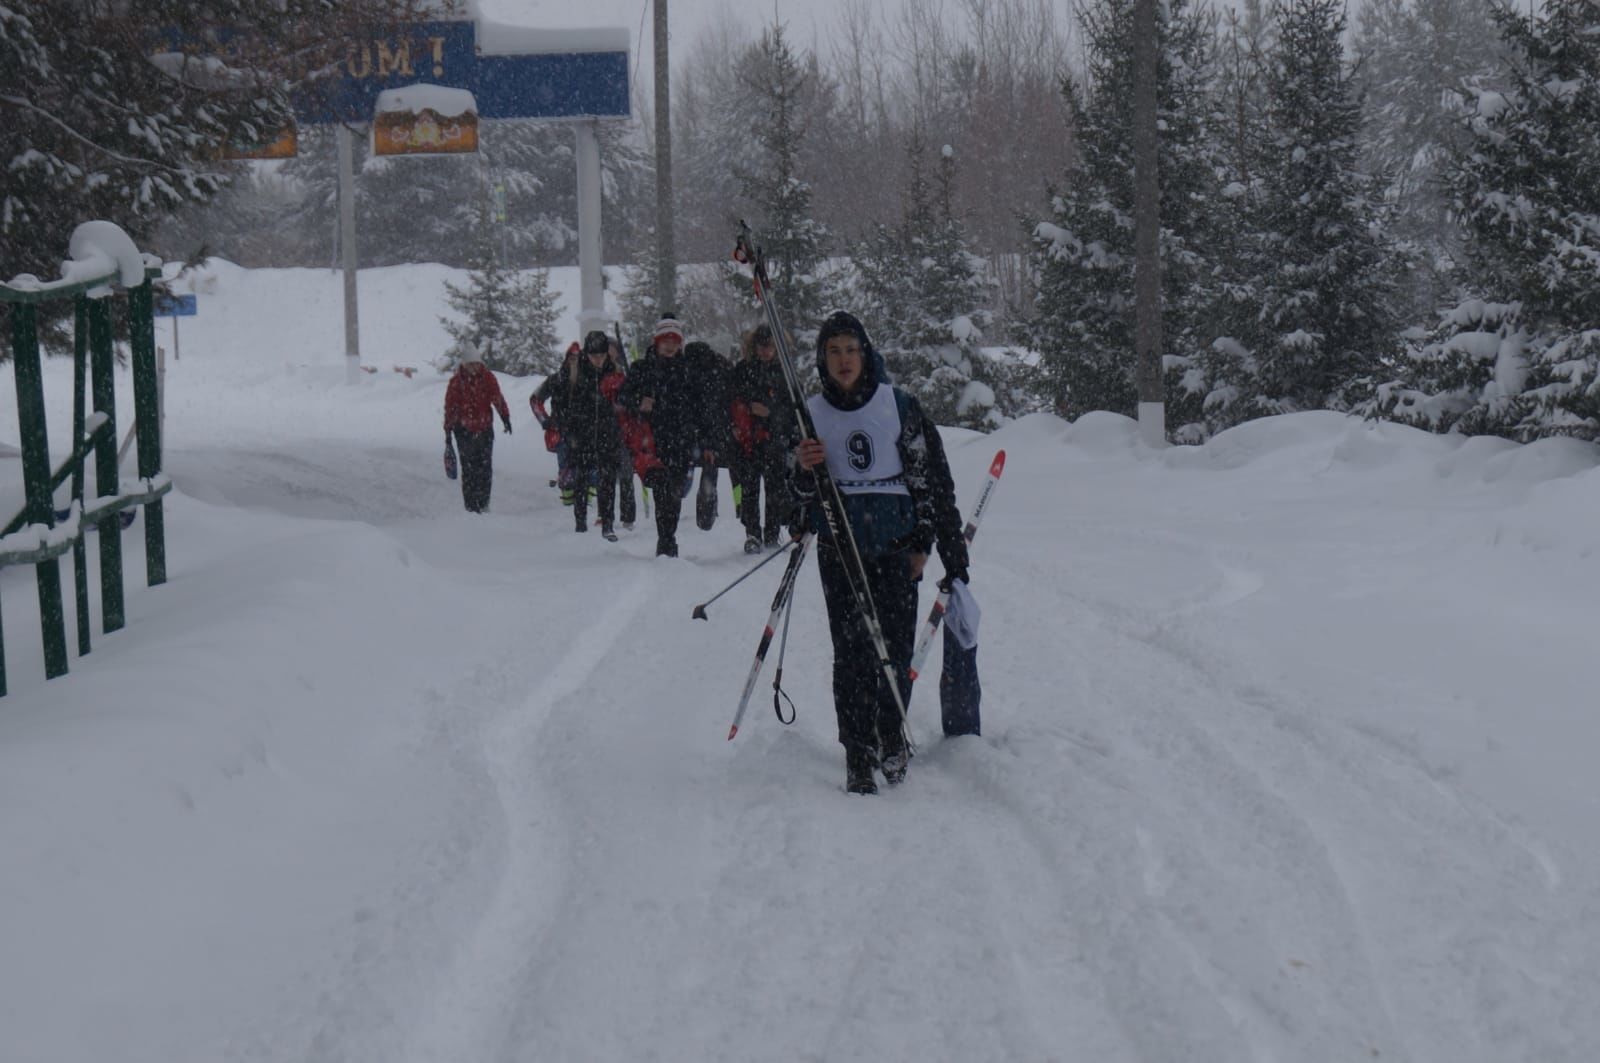
POLYGON ((134 240, 211 199, 229 141, 270 139, 294 78, 354 26, 419 18, 426 0, 5 0, 0 5, 0 242, 6 267, 53 275, 72 229, 134 240), (226 64, 200 43, 235 30, 226 64), (152 53, 152 48, 160 48, 152 53))

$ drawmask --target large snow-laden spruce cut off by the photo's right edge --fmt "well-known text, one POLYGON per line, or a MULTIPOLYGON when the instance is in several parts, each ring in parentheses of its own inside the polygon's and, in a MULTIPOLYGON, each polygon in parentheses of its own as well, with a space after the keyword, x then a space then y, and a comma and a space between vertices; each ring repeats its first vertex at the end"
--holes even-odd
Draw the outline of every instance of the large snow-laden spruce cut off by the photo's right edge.
POLYGON ((1440 431, 1600 439, 1600 3, 1494 21, 1506 88, 1464 94, 1469 141, 1446 171, 1467 298, 1384 408, 1440 431))

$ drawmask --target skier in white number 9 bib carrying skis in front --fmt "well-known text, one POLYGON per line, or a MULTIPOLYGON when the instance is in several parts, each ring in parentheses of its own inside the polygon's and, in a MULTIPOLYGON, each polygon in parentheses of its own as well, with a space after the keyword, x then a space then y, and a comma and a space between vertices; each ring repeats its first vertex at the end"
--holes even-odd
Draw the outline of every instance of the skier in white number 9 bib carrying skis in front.
POLYGON ((891 786, 906 778, 910 762, 906 722, 850 591, 842 552, 848 544, 830 540, 816 482, 805 471, 827 463, 843 496, 901 703, 910 701, 907 668, 917 634, 917 583, 928 551, 938 543, 946 580, 966 581, 966 541, 939 429, 909 392, 891 384, 883 357, 853 314, 837 311, 822 322, 816 370, 822 394, 808 399, 806 407, 818 437, 800 440, 795 448, 790 490, 803 519, 818 532, 845 788, 875 794, 875 767, 891 786))

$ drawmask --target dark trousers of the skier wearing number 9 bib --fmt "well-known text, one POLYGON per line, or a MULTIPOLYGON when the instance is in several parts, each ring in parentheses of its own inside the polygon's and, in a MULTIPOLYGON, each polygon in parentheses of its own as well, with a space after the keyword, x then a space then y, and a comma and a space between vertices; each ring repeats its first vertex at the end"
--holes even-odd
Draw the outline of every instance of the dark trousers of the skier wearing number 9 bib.
MULTIPOLYGON (((899 733, 899 708, 878 664, 878 652, 850 594, 843 559, 824 543, 818 546, 816 560, 822 572, 827 629, 834 637, 834 711, 838 714, 838 741, 846 751, 875 751, 883 735, 899 733)), ((917 639, 917 581, 910 578, 910 557, 904 552, 869 557, 866 568, 901 700, 909 706, 910 652, 917 639)))

